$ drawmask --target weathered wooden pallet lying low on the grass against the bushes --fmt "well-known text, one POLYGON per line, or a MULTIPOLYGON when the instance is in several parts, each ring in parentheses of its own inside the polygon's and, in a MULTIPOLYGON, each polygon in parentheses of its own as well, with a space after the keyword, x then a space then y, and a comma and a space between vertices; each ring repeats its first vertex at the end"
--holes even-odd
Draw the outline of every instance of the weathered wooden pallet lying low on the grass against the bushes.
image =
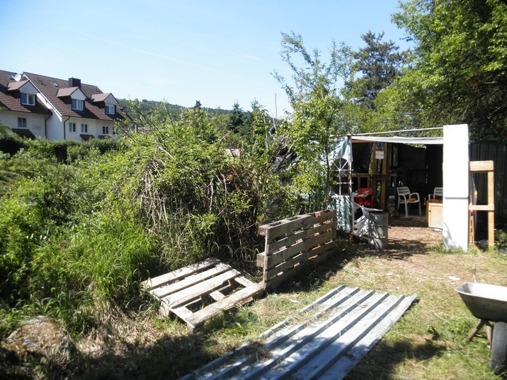
POLYGON ((176 314, 192 332, 221 312, 251 302, 263 292, 218 259, 209 259, 149 279, 142 286, 161 302, 164 316, 176 314))

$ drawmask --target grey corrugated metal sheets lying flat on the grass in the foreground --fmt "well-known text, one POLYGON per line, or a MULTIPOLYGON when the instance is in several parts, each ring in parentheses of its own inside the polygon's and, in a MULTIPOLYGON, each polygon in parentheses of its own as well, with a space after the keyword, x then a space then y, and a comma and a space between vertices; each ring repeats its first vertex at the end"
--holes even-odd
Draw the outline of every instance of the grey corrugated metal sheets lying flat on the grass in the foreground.
POLYGON ((301 310, 306 322, 281 322, 261 334, 263 344, 244 344, 182 379, 343 379, 415 298, 338 287, 301 310))

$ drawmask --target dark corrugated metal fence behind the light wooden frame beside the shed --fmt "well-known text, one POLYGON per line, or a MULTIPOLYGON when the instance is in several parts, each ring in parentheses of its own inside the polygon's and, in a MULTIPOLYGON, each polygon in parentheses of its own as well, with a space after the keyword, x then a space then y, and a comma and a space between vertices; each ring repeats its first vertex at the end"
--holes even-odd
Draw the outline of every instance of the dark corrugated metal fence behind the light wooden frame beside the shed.
MULTIPOLYGON (((495 222, 507 222, 507 145, 503 143, 471 143, 471 161, 493 160, 495 163, 495 222)), ((486 205, 486 175, 474 175, 479 204, 486 205)), ((444 190, 445 191, 445 190, 444 190)))

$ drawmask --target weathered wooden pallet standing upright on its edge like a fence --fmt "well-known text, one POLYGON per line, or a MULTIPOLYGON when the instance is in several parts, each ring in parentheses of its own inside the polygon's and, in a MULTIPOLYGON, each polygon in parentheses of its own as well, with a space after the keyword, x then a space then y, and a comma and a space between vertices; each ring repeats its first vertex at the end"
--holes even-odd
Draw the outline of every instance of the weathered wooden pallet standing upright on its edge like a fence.
POLYGON ((263 268, 266 290, 316 264, 336 250, 336 211, 326 210, 297 215, 261 225, 265 237, 264 252, 257 255, 257 266, 263 268))

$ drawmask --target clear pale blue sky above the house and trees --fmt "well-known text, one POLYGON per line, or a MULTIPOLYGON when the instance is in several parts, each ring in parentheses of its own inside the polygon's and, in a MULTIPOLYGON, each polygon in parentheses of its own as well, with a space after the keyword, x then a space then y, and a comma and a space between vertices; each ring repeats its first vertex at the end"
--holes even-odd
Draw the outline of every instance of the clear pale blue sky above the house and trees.
POLYGON ((0 2, 0 69, 80 78, 116 98, 180 106, 250 110, 256 99, 273 115, 288 107, 273 71, 281 32, 301 34, 325 52, 334 40, 363 46, 361 34, 384 31, 396 0, 335 1, 37 1, 0 2))

